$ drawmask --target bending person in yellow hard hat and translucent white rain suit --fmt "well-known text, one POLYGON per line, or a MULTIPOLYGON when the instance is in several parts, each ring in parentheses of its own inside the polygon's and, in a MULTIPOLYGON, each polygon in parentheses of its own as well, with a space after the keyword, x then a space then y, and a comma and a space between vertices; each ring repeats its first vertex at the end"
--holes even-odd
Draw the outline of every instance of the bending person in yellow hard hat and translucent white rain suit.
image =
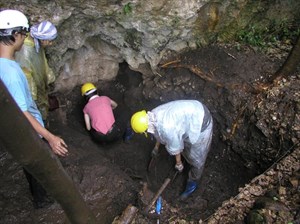
POLYGON ((176 100, 151 111, 136 112, 131 117, 131 127, 136 133, 151 133, 157 142, 152 155, 156 156, 159 145, 164 144, 168 153, 175 156, 175 169, 183 170, 181 155, 190 164, 185 191, 186 199, 197 188, 207 154, 210 150, 213 119, 207 107, 197 100, 176 100))

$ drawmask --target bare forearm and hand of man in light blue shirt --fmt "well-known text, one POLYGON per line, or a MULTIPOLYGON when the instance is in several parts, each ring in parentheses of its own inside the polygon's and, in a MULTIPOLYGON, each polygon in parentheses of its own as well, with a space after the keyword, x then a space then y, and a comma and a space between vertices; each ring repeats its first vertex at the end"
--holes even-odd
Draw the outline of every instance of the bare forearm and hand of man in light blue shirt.
POLYGON ((24 111, 23 113, 34 130, 48 141, 52 151, 55 154, 60 156, 66 156, 68 154, 68 146, 62 138, 52 134, 50 131, 44 128, 28 111, 24 111))

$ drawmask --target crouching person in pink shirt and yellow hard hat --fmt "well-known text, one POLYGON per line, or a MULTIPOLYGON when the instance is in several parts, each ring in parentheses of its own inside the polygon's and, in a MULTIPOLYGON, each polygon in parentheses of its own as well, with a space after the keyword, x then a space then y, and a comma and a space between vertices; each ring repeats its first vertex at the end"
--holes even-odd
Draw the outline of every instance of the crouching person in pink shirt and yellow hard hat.
POLYGON ((110 143, 123 138, 128 142, 133 136, 129 117, 120 116, 115 119, 113 109, 118 104, 107 96, 99 96, 97 88, 92 83, 85 83, 81 87, 81 94, 85 97, 86 105, 83 109, 86 129, 98 143, 110 143))

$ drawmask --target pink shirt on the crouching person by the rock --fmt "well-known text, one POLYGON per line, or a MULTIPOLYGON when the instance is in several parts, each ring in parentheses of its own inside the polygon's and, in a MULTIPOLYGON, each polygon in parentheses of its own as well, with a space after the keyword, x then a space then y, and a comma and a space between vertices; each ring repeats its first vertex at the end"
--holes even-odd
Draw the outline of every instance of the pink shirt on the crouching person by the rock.
POLYGON ((97 96, 89 100, 83 113, 89 115, 92 128, 102 134, 106 134, 115 123, 111 101, 107 96, 97 96))

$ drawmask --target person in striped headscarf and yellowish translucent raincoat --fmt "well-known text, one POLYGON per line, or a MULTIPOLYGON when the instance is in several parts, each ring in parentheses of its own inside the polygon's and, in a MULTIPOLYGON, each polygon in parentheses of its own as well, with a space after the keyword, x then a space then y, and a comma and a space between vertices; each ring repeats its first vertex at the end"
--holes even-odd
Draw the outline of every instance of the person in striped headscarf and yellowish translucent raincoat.
POLYGON ((56 27, 49 21, 43 21, 30 28, 22 49, 16 53, 16 61, 26 75, 32 98, 40 110, 43 120, 47 120, 49 103, 49 84, 55 81, 55 75, 48 66, 45 48, 52 45, 57 37, 56 27))

